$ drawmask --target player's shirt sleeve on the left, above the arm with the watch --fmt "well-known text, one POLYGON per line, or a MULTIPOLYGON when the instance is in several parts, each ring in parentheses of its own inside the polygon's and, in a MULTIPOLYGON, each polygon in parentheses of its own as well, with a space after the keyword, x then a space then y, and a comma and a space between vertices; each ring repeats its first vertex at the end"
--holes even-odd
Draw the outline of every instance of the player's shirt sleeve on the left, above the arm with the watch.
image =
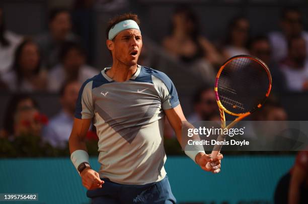
POLYGON ((94 116, 94 107, 92 101, 93 81, 87 80, 79 91, 76 102, 75 118, 89 119, 94 116))

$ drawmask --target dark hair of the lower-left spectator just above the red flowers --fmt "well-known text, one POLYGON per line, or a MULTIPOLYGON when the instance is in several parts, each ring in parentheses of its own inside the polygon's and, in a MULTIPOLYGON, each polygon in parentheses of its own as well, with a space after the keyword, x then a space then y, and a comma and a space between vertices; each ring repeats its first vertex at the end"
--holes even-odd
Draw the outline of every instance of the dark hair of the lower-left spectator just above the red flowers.
POLYGON ((30 99, 34 107, 38 109, 38 104, 33 98, 31 98, 31 96, 22 93, 14 94, 8 102, 5 112, 5 120, 3 128, 7 134, 11 135, 14 133, 14 116, 17 112, 17 106, 19 105, 20 102, 26 99, 30 99))

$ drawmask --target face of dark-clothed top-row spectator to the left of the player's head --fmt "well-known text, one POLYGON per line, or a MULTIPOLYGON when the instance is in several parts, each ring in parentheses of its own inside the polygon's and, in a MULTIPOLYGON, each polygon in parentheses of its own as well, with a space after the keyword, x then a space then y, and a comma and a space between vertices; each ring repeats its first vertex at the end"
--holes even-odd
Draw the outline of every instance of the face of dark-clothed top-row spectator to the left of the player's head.
POLYGON ((49 28, 54 39, 65 40, 71 29, 70 15, 67 12, 58 13, 49 23, 49 28))

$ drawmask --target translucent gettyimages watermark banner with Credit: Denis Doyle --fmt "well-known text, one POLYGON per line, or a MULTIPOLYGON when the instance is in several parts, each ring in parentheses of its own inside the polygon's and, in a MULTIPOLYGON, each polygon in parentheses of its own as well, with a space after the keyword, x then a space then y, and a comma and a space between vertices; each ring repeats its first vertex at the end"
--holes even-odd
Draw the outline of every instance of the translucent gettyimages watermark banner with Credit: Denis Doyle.
POLYGON ((183 121, 181 139, 188 151, 211 151, 220 144, 223 151, 307 150, 308 121, 240 121, 229 129, 221 128, 220 121, 183 121), (217 141, 218 135, 223 139, 217 141))

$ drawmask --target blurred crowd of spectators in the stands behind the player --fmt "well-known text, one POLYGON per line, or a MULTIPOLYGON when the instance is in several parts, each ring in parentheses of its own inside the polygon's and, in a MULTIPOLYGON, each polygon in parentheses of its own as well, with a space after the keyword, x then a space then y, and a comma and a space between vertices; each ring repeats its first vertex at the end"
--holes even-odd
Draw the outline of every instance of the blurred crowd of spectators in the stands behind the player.
MULTIPOLYGON (((48 30, 35 36, 21 36, 6 29, 5 13, 0 8, 0 90, 12 93, 0 138, 12 143, 31 134, 41 136, 42 143, 53 147, 67 147, 79 89, 85 80, 103 69, 89 65, 89 53, 94 51, 87 44, 91 39, 90 31, 86 32, 90 23, 85 21, 91 18, 79 18, 83 21, 77 21, 78 26, 72 23, 73 17, 78 18, 78 9, 92 6, 78 5, 73 12, 51 10, 48 30), (73 28, 80 28, 79 32, 73 28), (31 97, 37 92, 58 94, 62 108, 53 118, 47 119, 31 97)), ((245 16, 236 16, 226 28, 225 39, 217 42, 201 35, 199 18, 188 6, 177 7, 170 18, 171 32, 157 44, 166 55, 205 82, 192 98, 194 112, 187 116, 190 122, 219 120, 212 84, 219 66, 235 55, 250 54, 263 60, 272 73, 274 94, 308 90, 308 33, 296 8, 281 10, 280 31, 258 36, 251 36, 250 22, 245 16)), ((151 67, 150 61, 144 60, 148 54, 146 45, 143 51, 140 63, 151 67)), ((277 101, 273 98, 270 100, 277 101)), ((260 117, 257 120, 287 120, 278 102, 269 106, 256 116, 260 117)), ((173 137, 168 124, 165 135, 173 137)), ((89 130, 90 140, 97 140, 94 127, 89 130)))

